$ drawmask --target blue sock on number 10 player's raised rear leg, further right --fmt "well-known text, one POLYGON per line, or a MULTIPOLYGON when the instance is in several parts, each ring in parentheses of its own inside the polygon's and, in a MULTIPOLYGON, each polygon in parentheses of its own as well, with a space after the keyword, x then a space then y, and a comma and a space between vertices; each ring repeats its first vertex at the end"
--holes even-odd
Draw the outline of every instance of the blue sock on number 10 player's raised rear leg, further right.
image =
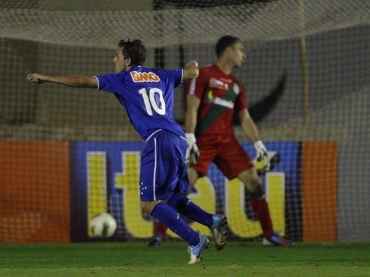
POLYGON ((187 218, 196 221, 205 226, 211 227, 213 223, 213 215, 207 213, 200 208, 189 198, 182 194, 175 194, 168 200, 168 205, 173 207, 176 211, 180 212, 187 218))

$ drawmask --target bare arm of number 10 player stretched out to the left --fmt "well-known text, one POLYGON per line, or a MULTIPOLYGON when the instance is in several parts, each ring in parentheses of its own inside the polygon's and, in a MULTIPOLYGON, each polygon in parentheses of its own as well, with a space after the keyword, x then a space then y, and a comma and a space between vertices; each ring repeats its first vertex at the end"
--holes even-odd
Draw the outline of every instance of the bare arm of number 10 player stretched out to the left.
POLYGON ((98 81, 95 77, 84 75, 60 75, 60 76, 47 76, 38 73, 28 74, 27 80, 31 83, 42 84, 51 82, 61 84, 68 87, 81 87, 81 88, 97 88, 98 81))

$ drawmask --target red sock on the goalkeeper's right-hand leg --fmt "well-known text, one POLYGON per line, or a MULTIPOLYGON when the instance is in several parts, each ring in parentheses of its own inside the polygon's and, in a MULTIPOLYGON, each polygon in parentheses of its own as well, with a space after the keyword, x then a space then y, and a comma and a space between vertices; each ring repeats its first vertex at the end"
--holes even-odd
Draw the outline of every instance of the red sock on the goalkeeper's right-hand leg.
POLYGON ((249 201, 251 202, 253 211, 258 216, 258 220, 263 231, 263 236, 265 238, 271 237, 274 234, 274 228, 272 226, 270 211, 265 195, 263 195, 262 197, 250 195, 249 201))

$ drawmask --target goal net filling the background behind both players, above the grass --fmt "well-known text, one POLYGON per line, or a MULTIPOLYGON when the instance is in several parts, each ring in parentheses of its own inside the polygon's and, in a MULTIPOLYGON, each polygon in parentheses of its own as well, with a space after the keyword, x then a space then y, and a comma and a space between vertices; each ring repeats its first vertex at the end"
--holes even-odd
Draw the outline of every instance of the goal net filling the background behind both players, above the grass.
MULTIPOLYGON (((204 66, 226 34, 245 44, 234 73, 268 150, 281 157, 262 176, 275 229, 304 242, 370 239, 369 1, 85 2, 0 2, 0 242, 95 241, 88 222, 103 212, 118 224, 111 240, 153 233, 139 206, 143 142, 114 96, 31 85, 27 74, 112 72, 118 41, 137 38, 148 67, 204 66)), ((175 100, 182 125, 183 87, 175 100)), ((237 124, 235 133, 254 156, 237 124)), ((260 238, 243 185, 214 165, 189 197, 227 215, 230 239, 260 238)))

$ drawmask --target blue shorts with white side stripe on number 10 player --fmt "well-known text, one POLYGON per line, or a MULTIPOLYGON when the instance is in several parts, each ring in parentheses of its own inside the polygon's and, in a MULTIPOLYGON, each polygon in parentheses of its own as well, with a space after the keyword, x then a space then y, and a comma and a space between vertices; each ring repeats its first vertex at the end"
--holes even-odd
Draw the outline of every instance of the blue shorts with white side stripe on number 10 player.
POLYGON ((146 142, 141 156, 140 200, 167 200, 189 191, 186 138, 160 130, 146 142))

